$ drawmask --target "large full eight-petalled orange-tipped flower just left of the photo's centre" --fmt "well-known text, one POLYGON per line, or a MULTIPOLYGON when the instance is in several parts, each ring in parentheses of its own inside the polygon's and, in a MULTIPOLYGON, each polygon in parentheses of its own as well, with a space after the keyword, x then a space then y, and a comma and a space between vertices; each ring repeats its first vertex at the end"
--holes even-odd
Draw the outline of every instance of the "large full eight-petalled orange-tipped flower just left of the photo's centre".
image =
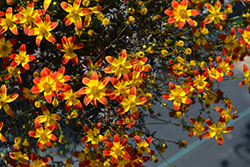
POLYGON ((78 90, 78 94, 86 94, 83 100, 85 106, 87 106, 92 101, 94 106, 97 107, 96 100, 98 100, 103 105, 108 104, 108 101, 104 96, 110 96, 114 92, 112 89, 105 88, 109 82, 109 79, 110 77, 104 77, 99 81, 96 71, 91 74, 91 79, 87 77, 82 79, 82 83, 87 86, 78 90))

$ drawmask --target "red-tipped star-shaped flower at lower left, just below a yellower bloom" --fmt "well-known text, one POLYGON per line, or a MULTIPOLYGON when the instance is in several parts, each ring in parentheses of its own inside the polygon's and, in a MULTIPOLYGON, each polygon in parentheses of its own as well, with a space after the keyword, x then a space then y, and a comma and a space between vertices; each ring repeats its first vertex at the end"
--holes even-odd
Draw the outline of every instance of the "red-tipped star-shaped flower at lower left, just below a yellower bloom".
POLYGON ((57 140, 57 137, 51 134, 55 128, 55 124, 51 124, 50 126, 47 126, 45 129, 43 129, 42 125, 36 121, 35 127, 36 130, 31 130, 28 132, 28 134, 33 138, 39 138, 36 144, 37 148, 41 148, 44 144, 51 148, 50 140, 57 140))

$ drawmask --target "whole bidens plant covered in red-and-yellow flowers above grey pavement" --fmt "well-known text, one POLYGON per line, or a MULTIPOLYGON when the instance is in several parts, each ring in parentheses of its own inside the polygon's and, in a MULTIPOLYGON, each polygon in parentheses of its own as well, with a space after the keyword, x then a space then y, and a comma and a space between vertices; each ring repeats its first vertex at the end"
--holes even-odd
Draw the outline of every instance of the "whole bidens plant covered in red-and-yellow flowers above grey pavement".
POLYGON ((0 166, 143 166, 168 143, 188 147, 148 119, 223 145, 239 115, 216 83, 250 90, 247 65, 232 72, 250 48, 248 6, 236 18, 235 4, 1 1, 0 166))

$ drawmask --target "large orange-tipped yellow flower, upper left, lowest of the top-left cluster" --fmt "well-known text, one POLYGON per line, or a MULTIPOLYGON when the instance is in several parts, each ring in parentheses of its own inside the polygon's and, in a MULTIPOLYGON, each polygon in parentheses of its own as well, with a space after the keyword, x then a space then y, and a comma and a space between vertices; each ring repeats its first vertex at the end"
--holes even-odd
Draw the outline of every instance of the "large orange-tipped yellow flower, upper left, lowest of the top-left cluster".
POLYGON ((37 28, 31 29, 28 35, 36 35, 36 45, 38 47, 40 46, 43 37, 45 37, 51 43, 56 43, 56 39, 53 37, 50 31, 55 29, 58 23, 51 22, 49 14, 45 15, 44 22, 38 15, 36 15, 35 24, 37 25, 37 28))

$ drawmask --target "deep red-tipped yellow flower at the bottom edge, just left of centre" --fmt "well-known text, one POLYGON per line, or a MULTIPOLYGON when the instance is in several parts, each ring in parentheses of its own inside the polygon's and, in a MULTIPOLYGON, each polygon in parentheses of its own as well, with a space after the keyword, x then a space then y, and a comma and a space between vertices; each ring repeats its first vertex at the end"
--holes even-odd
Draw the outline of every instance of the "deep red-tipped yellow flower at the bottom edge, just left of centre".
POLYGON ((109 147, 108 149, 103 151, 105 156, 111 156, 111 163, 114 164, 117 159, 130 159, 131 156, 125 150, 125 146, 127 145, 127 139, 123 139, 120 141, 118 134, 116 134, 113 138, 112 142, 107 142, 106 145, 109 147))

